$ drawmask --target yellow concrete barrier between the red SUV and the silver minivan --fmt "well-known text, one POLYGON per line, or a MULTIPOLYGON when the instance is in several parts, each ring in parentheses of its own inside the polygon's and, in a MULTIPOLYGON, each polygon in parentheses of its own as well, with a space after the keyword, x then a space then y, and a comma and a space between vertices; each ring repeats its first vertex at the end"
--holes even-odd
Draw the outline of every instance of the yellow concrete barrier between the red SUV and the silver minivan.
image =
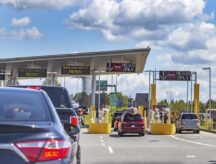
POLYGON ((152 123, 151 134, 153 135, 174 135, 175 124, 152 123))

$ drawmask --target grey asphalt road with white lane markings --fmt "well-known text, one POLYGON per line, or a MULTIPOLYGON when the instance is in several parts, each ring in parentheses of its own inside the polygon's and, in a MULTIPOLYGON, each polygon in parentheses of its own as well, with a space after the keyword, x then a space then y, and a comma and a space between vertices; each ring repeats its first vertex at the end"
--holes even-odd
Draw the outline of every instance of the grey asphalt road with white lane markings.
POLYGON ((83 164, 216 164, 216 134, 174 136, 88 134, 82 129, 83 164))

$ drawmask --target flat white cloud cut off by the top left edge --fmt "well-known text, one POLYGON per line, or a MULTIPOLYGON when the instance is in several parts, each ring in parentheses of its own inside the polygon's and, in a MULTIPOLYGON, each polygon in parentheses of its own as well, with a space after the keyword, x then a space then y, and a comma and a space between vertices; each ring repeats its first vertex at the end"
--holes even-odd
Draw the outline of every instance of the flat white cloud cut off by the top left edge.
POLYGON ((88 0, 0 0, 0 5, 10 5, 16 9, 63 9, 78 4, 87 3, 88 0))

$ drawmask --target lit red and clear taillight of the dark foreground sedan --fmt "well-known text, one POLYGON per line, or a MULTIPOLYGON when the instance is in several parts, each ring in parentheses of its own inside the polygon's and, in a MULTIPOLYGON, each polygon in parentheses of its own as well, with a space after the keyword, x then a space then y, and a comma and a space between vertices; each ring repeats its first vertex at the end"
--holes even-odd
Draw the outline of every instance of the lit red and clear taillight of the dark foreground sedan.
POLYGON ((58 139, 19 142, 15 145, 30 162, 63 159, 70 152, 70 142, 58 139))

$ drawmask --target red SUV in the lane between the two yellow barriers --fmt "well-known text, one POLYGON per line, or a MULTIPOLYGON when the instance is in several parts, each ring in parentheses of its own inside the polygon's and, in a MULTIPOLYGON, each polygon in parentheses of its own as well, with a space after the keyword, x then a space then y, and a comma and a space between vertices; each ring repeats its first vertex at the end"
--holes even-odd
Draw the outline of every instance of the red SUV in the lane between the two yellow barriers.
POLYGON ((123 113, 118 125, 118 134, 122 136, 125 133, 138 133, 145 135, 144 120, 140 114, 123 113))

